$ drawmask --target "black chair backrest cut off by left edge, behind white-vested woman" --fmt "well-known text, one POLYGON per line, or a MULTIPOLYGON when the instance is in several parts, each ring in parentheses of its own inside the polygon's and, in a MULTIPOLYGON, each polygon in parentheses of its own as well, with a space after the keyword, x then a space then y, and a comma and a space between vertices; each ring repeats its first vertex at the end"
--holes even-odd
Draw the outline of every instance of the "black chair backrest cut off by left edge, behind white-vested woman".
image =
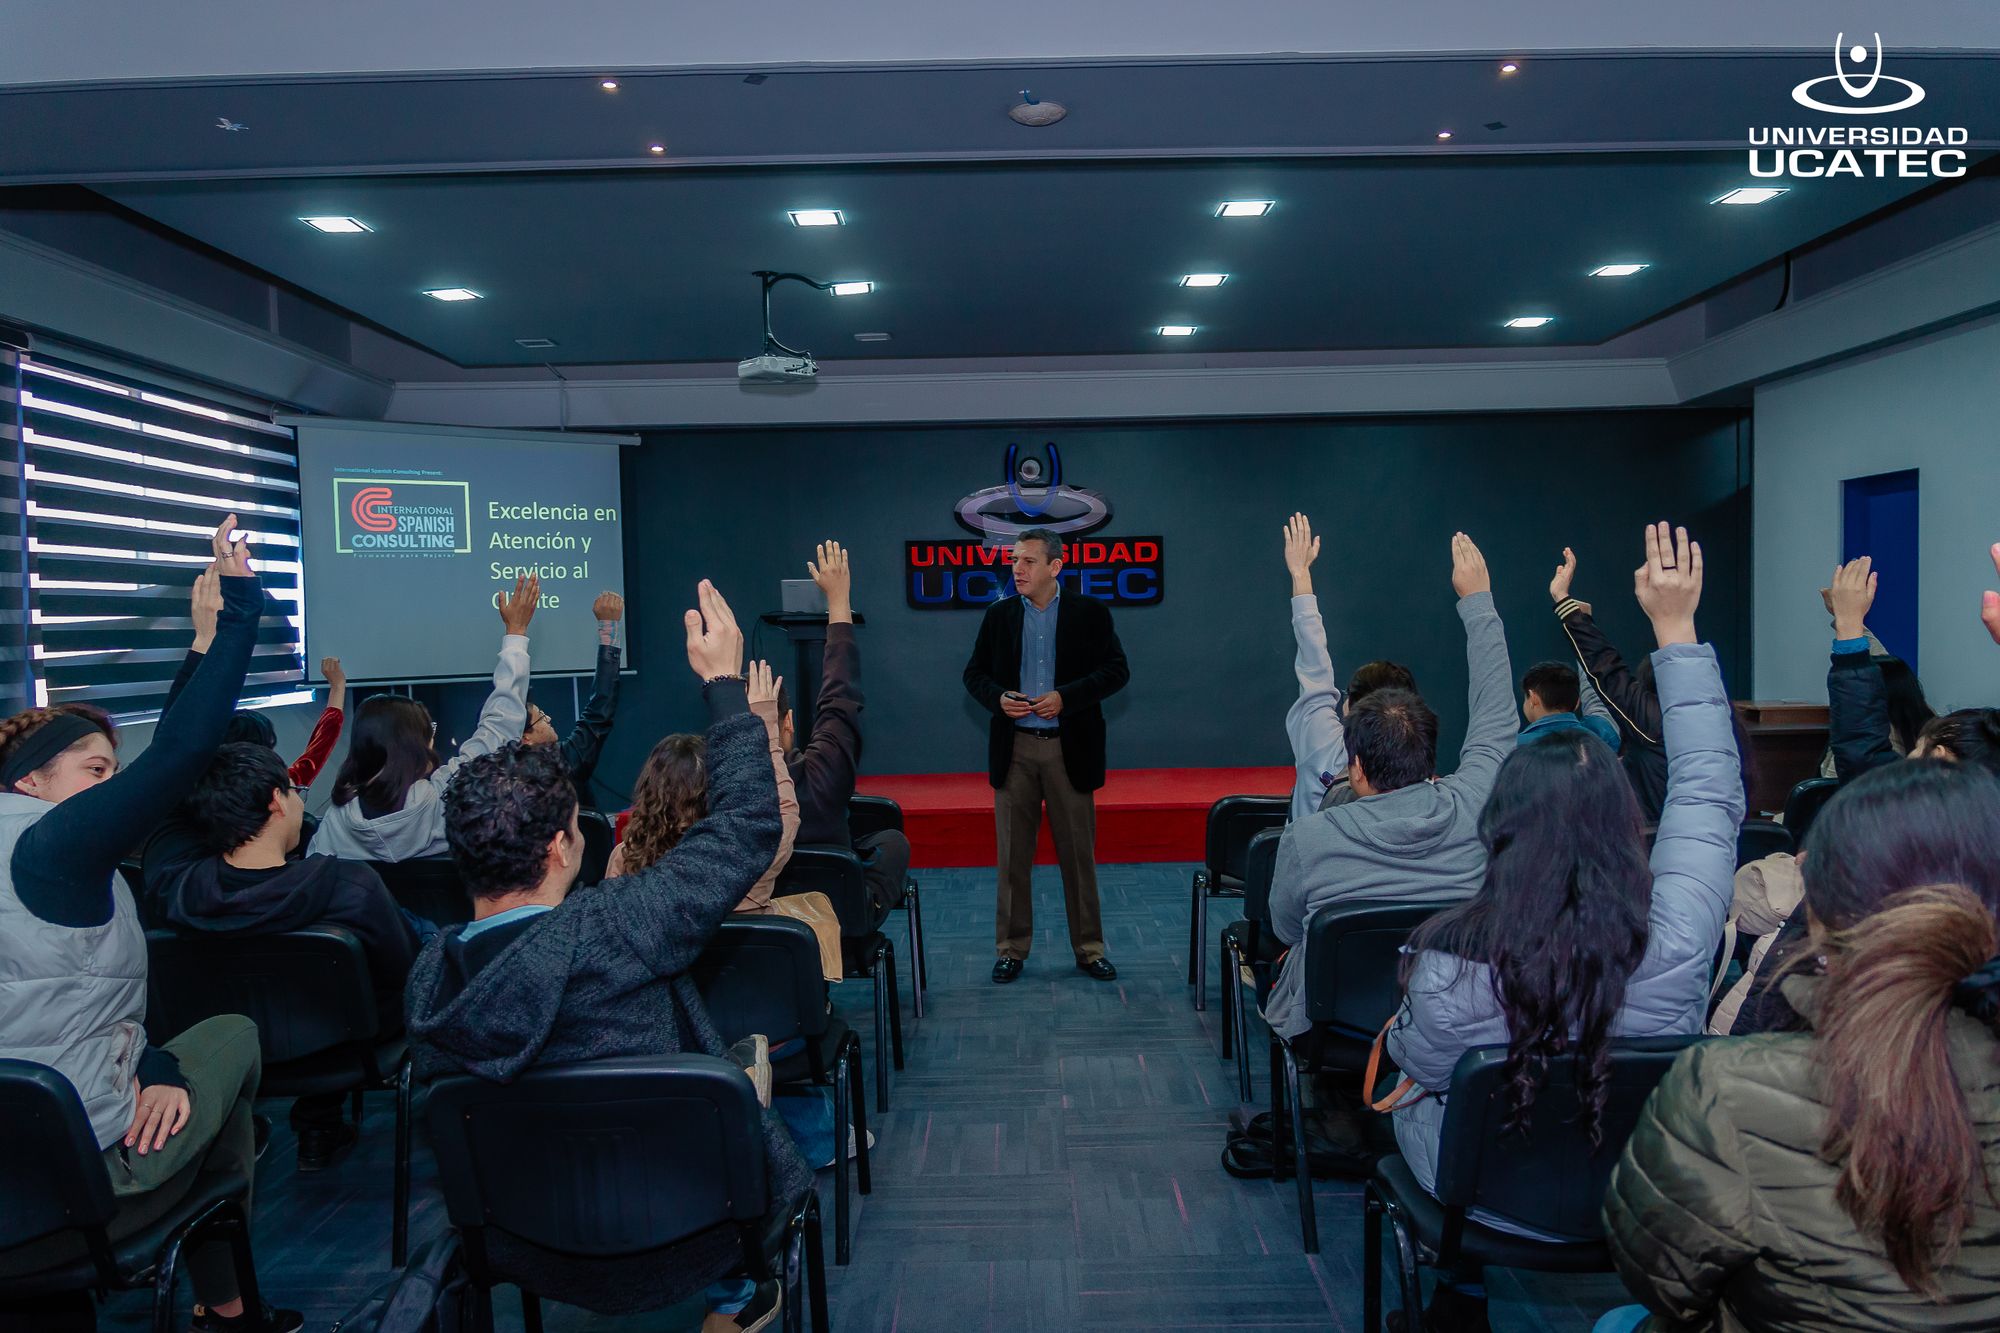
POLYGON ((34 1061, 0 1061, 0 1249, 112 1219, 112 1179, 68 1079, 34 1061))

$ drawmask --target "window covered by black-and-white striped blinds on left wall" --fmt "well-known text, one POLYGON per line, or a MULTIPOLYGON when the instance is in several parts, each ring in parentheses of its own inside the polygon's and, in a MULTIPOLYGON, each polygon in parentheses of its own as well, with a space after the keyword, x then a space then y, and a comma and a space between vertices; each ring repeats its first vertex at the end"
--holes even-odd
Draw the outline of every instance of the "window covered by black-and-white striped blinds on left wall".
POLYGON ((14 608, 26 691, 38 705, 90 701, 120 719, 156 715, 186 656, 188 594, 208 532, 234 510, 276 608, 264 618, 244 703, 304 699, 298 450, 268 414, 134 376, 22 354, 6 414, 12 494, 24 510, 14 608))

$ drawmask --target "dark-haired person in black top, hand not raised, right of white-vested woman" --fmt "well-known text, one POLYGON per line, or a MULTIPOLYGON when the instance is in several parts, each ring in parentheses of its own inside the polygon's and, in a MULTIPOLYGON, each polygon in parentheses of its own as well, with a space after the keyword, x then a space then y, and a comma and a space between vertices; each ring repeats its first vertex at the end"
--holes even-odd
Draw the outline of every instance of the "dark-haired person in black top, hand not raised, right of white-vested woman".
MULTIPOLYGON (((262 745, 224 745, 182 813, 146 845, 146 887, 182 931, 280 935, 310 925, 354 931, 368 955, 384 1037, 402 1031, 402 983, 416 931, 382 877, 360 861, 294 859, 306 801, 262 745)), ((354 1143, 344 1093, 292 1103, 298 1169, 322 1171, 354 1143)))

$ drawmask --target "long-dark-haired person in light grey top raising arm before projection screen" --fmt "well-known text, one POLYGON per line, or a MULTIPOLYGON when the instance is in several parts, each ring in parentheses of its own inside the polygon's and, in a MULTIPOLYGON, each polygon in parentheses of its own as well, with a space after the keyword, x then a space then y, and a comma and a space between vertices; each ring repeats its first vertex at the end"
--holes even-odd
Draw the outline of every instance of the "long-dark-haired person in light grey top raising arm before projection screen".
POLYGON ((400 695, 374 695, 354 715, 348 759, 334 775, 334 803, 326 807, 312 851, 348 861, 414 861, 442 857, 444 789, 458 765, 518 741, 528 723, 528 622, 542 596, 542 580, 514 580, 500 598, 500 664, 494 693, 480 707, 478 727, 442 763, 434 743, 438 725, 430 709, 400 695))

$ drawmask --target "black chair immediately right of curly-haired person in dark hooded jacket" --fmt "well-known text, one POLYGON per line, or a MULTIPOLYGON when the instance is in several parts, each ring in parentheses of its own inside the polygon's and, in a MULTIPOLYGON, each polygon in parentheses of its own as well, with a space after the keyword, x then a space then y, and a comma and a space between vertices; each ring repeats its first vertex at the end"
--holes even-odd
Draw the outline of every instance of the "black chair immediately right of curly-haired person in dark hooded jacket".
POLYGON ((792 917, 730 917, 694 963, 694 985, 722 1041, 764 1033, 772 1049, 798 1037, 804 1049, 774 1059, 772 1087, 828 1087, 834 1095, 834 1263, 848 1261, 848 1127, 854 1173, 870 1193, 868 1099, 862 1041, 826 1011, 820 941, 792 917))

